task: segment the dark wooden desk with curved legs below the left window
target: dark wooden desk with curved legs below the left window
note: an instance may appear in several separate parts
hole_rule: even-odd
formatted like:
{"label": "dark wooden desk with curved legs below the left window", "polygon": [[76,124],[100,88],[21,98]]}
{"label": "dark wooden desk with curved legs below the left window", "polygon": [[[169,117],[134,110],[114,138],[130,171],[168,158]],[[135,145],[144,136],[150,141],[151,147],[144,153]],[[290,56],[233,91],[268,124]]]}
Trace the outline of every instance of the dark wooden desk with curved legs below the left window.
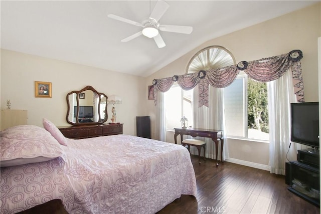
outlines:
{"label": "dark wooden desk with curved legs below the left window", "polygon": [[[221,162],[222,162],[222,154],[223,154],[223,131],[222,130],[215,130],[215,129],[201,129],[201,128],[174,128],[174,140],[177,144],[177,135],[181,135],[181,143],[183,141],[183,135],[190,135],[192,137],[208,137],[211,138],[215,142],[215,157],[216,157],[216,166],[219,165],[218,163],[218,149],[219,149],[219,142],[218,139],[221,141]],[[219,137],[218,137],[218,133]]]}

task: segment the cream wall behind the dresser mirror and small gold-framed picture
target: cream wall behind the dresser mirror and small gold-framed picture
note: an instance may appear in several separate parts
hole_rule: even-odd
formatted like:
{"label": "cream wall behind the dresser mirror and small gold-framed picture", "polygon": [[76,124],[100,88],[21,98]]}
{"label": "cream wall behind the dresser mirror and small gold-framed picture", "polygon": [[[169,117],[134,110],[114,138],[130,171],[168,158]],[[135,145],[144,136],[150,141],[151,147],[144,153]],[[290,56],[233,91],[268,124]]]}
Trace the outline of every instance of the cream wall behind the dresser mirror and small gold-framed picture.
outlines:
{"label": "cream wall behind the dresser mirror and small gold-framed picture", "polygon": [[[51,82],[52,98],[36,98],[34,81]],[[32,125],[42,126],[43,117],[56,126],[69,125],[67,93],[90,85],[107,96],[116,94],[122,98],[122,104],[115,105],[117,122],[124,123],[124,134],[135,135],[136,116],[146,112],[141,105],[147,99],[141,96],[144,83],[142,77],[1,50],[1,109],[6,109],[6,101],[11,100],[12,109],[28,110],[28,124]]]}

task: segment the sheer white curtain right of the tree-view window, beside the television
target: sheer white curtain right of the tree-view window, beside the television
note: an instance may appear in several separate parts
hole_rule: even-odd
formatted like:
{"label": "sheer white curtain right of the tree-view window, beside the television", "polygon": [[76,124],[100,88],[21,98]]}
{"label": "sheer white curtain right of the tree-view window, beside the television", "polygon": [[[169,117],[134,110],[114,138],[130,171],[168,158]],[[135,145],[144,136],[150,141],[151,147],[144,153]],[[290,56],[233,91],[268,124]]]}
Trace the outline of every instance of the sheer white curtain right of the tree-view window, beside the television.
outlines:
{"label": "sheer white curtain right of the tree-view window, beside the television", "polygon": [[[270,172],[285,175],[285,162],[296,160],[300,144],[291,143],[290,103],[296,102],[289,69],[282,77],[268,82],[270,128]],[[289,145],[291,143],[291,147]],[[287,153],[288,152],[288,153]]]}

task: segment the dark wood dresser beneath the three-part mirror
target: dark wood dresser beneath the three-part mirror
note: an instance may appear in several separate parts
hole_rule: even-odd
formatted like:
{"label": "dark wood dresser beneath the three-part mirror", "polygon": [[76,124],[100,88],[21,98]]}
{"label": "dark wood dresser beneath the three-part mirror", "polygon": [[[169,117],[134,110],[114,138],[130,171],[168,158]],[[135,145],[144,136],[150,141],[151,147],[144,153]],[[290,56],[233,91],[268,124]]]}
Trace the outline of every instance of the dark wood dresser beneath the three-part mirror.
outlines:
{"label": "dark wood dresser beneath the three-part mirror", "polygon": [[99,124],[99,125],[76,125],[61,126],[58,129],[68,138],[83,139],[89,137],[99,137],[114,134],[122,134],[122,123],[119,124]]}

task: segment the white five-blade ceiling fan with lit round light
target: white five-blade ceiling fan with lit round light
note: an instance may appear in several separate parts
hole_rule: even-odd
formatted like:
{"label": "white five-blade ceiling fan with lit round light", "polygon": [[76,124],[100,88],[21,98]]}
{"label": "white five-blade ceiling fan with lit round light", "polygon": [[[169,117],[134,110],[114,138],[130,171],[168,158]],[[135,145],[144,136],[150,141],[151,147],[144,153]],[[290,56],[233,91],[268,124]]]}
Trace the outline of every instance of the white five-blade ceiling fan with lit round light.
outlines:
{"label": "white five-blade ceiling fan with lit round light", "polygon": [[174,33],[180,33],[180,34],[191,34],[193,31],[193,27],[190,27],[190,26],[161,25],[158,21],[159,19],[162,18],[162,16],[165,14],[165,12],[169,7],[170,6],[166,2],[161,0],[157,1],[149,18],[147,20],[144,20],[141,23],[128,20],[126,18],[119,17],[113,14],[109,14],[108,17],[114,20],[118,20],[121,22],[125,22],[128,24],[143,28],[142,31],[121,40],[121,42],[128,42],[136,37],[139,37],[140,35],[144,35],[145,37],[153,38],[158,48],[163,48],[166,46],[166,44],[161,34],[159,34],[159,31],[174,32]]}

